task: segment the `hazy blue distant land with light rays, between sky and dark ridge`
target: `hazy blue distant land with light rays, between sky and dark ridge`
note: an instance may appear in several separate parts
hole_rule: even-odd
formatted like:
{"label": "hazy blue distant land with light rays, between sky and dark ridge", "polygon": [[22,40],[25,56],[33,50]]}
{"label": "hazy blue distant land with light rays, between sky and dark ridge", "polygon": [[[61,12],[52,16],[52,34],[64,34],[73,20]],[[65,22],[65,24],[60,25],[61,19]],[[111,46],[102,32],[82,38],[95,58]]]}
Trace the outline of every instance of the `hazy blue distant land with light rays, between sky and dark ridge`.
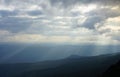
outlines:
{"label": "hazy blue distant land with light rays, between sky and dark ridge", "polygon": [[[59,60],[70,55],[94,56],[117,53],[120,45],[1,44],[0,63],[33,63]],[[75,57],[77,56],[75,55]]]}

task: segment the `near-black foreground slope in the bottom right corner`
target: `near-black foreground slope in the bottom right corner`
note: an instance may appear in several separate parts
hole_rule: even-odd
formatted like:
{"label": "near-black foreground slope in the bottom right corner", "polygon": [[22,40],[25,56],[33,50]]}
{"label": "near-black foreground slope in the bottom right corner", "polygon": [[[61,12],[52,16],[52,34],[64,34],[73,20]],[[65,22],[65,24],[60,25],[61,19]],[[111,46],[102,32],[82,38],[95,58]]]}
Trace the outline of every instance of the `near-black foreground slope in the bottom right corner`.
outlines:
{"label": "near-black foreground slope in the bottom right corner", "polygon": [[120,77],[120,61],[105,71],[102,77]]}

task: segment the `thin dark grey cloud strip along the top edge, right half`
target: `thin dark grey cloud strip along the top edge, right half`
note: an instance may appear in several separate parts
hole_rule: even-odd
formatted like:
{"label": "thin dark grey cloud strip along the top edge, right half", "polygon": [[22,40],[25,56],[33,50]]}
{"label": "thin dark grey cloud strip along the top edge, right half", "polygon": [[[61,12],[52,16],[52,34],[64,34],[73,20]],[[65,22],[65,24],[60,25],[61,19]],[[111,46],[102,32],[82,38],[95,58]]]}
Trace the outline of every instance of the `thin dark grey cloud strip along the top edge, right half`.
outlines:
{"label": "thin dark grey cloud strip along the top edge, right half", "polygon": [[58,3],[62,3],[62,6],[68,7],[73,6],[75,4],[99,4],[99,5],[119,5],[120,0],[50,0],[52,5],[57,5]]}

